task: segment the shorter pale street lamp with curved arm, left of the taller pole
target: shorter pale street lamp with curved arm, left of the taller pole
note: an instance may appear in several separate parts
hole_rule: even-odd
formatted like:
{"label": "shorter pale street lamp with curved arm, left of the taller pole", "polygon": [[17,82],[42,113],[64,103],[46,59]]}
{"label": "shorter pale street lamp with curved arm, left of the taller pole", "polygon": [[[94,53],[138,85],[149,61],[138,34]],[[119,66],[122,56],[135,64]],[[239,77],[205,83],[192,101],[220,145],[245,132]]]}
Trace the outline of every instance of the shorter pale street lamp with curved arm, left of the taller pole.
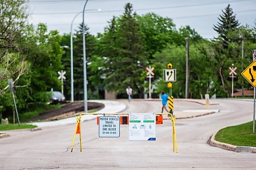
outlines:
{"label": "shorter pale street lamp with curved arm, left of the taller pole", "polygon": [[[100,11],[100,9],[93,9],[93,10],[86,10],[86,11]],[[84,11],[82,12],[79,12],[75,15],[75,17],[73,18],[72,22],[71,22],[71,30],[70,30],[70,65],[71,65],[71,102],[74,102],[74,76],[73,76],[73,22],[75,20],[75,18],[83,13]]]}

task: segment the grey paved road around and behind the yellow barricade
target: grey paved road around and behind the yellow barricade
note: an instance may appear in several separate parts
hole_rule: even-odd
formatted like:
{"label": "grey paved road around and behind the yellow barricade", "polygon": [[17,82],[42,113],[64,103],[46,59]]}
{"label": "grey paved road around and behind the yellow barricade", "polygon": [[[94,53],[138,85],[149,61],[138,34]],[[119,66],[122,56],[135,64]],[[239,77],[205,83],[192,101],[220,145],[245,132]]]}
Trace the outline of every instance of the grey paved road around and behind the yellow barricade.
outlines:
{"label": "grey paved road around and behind the yellow barricade", "polygon": [[[124,112],[159,112],[161,102],[121,101]],[[209,137],[226,126],[249,122],[253,103],[216,100],[219,113],[177,119],[178,153],[173,153],[172,124],[156,126],[156,141],[128,141],[127,125],[120,138],[99,138],[95,120],[81,124],[82,152],[77,135],[70,152],[75,125],[44,128],[41,131],[12,131],[0,139],[0,169],[256,169],[256,154],[236,153],[211,147]],[[197,103],[175,102],[177,110],[205,109]]]}

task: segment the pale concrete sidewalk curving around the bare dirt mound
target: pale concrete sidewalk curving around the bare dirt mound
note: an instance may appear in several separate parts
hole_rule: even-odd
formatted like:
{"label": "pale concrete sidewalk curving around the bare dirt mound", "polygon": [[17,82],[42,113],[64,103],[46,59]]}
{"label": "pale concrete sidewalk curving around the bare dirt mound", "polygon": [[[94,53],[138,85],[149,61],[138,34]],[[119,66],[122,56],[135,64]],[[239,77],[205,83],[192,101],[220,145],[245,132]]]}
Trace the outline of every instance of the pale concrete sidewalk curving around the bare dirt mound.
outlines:
{"label": "pale concrete sidewalk curving around the bare dirt mound", "polygon": [[[90,100],[89,102],[97,102],[105,105],[105,107],[101,110],[98,110],[97,113],[118,113],[118,112],[122,112],[126,108],[126,105],[117,101]],[[51,122],[35,122],[35,123],[32,123],[32,125],[36,125],[37,127],[51,127],[51,126],[75,124],[76,117],[69,117],[69,118],[51,121]],[[96,117],[97,115],[92,115],[92,114],[82,115],[81,122],[92,120],[92,119],[95,119]]]}

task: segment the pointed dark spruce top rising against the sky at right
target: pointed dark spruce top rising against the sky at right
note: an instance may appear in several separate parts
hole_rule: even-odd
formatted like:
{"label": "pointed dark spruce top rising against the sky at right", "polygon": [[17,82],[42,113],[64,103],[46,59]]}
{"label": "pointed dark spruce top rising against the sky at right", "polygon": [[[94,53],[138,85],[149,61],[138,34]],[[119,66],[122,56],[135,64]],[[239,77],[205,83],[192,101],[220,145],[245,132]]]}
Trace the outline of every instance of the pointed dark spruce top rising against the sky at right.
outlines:
{"label": "pointed dark spruce top rising against the sky at right", "polygon": [[232,8],[230,5],[225,8],[223,14],[218,18],[219,21],[217,25],[214,25],[214,30],[221,36],[223,41],[223,47],[226,49],[228,44],[228,32],[238,29],[239,22],[236,20],[236,15],[233,14]]}

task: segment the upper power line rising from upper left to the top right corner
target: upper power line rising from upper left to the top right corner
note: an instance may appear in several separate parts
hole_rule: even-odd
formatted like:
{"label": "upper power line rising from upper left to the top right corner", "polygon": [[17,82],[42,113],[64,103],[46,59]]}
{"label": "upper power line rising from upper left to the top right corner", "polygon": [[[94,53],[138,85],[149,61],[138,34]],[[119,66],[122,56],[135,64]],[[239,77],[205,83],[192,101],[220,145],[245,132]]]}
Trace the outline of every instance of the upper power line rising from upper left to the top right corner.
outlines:
{"label": "upper power line rising from upper left to the top right corner", "polygon": [[[97,1],[97,0],[95,0]],[[183,6],[171,6],[171,7],[159,7],[159,8],[141,8],[134,9],[134,11],[144,11],[144,10],[159,10],[159,9],[171,9],[171,8],[186,8],[186,7],[197,7],[206,5],[216,5],[216,4],[226,4],[226,3],[237,3],[253,0],[236,0],[236,1],[226,1],[220,3],[205,3],[205,4],[195,4],[195,5],[183,5]],[[110,11],[99,11],[99,12],[87,12],[87,13],[109,13],[109,12],[123,12],[123,10],[110,10]],[[53,13],[32,13],[32,15],[57,15],[57,14],[77,14],[78,12],[53,12]]]}

